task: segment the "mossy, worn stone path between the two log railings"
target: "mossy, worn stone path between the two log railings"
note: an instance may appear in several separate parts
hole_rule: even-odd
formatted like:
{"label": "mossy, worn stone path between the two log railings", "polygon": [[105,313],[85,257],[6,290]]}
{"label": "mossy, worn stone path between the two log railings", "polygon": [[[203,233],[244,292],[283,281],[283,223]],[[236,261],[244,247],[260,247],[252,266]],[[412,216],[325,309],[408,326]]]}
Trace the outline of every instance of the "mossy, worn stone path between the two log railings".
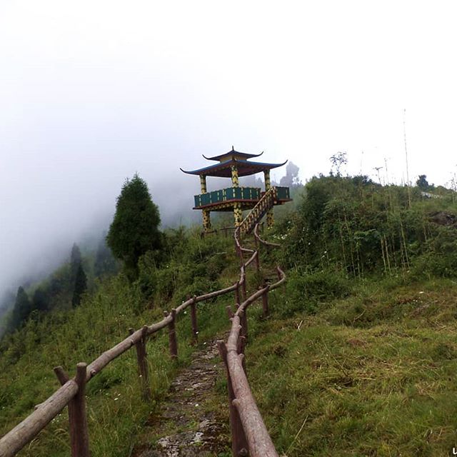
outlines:
{"label": "mossy, worn stone path between the two log railings", "polygon": [[[171,384],[158,415],[147,423],[144,444],[134,457],[228,456],[229,407],[216,393],[219,373],[225,370],[216,339],[194,353],[191,365]],[[224,374],[225,376],[225,374]]]}

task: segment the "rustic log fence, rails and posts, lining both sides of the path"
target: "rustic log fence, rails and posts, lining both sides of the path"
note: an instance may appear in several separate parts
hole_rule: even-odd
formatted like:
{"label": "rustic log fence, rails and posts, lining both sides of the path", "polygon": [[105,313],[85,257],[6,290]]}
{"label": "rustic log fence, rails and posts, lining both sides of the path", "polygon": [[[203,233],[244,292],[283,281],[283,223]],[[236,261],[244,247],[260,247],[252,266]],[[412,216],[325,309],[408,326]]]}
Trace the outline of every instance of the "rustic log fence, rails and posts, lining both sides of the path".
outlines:
{"label": "rustic log fence, rails and posts, lining both sides of the path", "polygon": [[[146,363],[146,342],[153,333],[168,327],[169,351],[172,358],[178,356],[178,345],[176,342],[176,316],[189,306],[191,307],[191,326],[193,339],[196,341],[198,335],[197,307],[196,304],[226,293],[234,292],[236,311],[231,306],[227,307],[231,319],[231,331],[226,342],[218,341],[219,353],[224,360],[229,387],[230,425],[232,437],[233,456],[251,457],[278,457],[273,442],[263,423],[261,413],[258,411],[256,401],[253,398],[246,378],[244,347],[247,338],[248,306],[254,301],[262,298],[263,316],[268,316],[268,292],[281,286],[286,281],[286,275],[281,268],[277,268],[278,281],[273,284],[264,284],[258,291],[247,297],[246,293],[246,268],[256,261],[257,271],[260,269],[258,249],[243,248],[239,241],[239,228],[234,232],[236,253],[240,259],[240,279],[233,286],[219,291],[206,293],[201,296],[194,296],[182,303],[165,317],[150,326],[143,326],[134,331],[129,330],[130,335],[116,346],[105,351],[93,362],[78,363],[76,376],[69,378],[61,366],[54,368],[61,387],[55,391],[43,403],[35,407],[35,411],[27,416],[11,431],[0,439],[0,457],[16,455],[21,448],[24,448],[53,418],[68,406],[69,411],[69,433],[71,442],[72,457],[89,457],[89,433],[86,418],[86,383],[94,378],[100,371],[116,357],[119,357],[135,346],[138,361],[139,379],[141,391],[147,400],[150,397],[148,366]],[[274,246],[267,243],[258,236],[258,224],[254,231],[256,246]],[[244,253],[251,253],[250,258],[244,261]]]}

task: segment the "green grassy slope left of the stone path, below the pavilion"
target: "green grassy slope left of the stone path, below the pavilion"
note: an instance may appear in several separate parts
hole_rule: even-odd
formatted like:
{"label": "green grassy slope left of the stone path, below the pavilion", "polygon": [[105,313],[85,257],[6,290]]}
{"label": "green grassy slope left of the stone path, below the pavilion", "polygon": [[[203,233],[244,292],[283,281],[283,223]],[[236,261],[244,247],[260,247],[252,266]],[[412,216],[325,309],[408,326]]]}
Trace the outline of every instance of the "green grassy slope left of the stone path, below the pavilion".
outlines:
{"label": "green grassy slope left of the stone path, below the pavilion", "polygon": [[[154,259],[141,262],[140,277],[129,283],[119,275],[101,281],[81,306],[44,313],[29,319],[24,328],[2,341],[0,355],[0,434],[19,423],[44,401],[59,383],[52,368],[64,366],[73,376],[76,363],[94,360],[124,339],[131,327],[154,323],[163,311],[178,306],[188,293],[199,294],[233,283],[233,241],[201,240],[198,233],[169,233],[166,262],[156,268]],[[234,265],[234,266],[233,266]],[[221,297],[199,305],[200,338],[228,328],[225,306],[233,298]],[[144,403],[139,392],[136,354],[119,357],[88,384],[89,435],[93,456],[126,456],[136,434],[156,401],[166,392],[174,373],[194,351],[189,316],[177,323],[179,361],[168,356],[168,336],[160,333],[148,344],[153,401]],[[68,420],[63,411],[21,455],[67,456]]]}

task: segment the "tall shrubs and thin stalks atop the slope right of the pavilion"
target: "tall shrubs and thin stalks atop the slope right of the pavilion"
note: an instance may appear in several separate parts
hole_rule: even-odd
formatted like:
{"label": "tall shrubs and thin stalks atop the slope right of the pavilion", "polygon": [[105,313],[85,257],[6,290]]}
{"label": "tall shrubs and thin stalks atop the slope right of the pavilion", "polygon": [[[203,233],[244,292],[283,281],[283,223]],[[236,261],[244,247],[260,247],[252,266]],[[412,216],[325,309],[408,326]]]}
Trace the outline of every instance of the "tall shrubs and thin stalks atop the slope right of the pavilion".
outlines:
{"label": "tall shrubs and thin stalks atop the slope right of the pavilion", "polygon": [[408,280],[433,275],[436,268],[451,276],[457,266],[454,229],[430,219],[433,211],[457,212],[450,192],[426,201],[411,189],[410,206],[402,186],[380,186],[365,176],[314,178],[296,213],[276,229],[284,245],[279,261],[301,272],[340,271],[358,279],[376,274]]}

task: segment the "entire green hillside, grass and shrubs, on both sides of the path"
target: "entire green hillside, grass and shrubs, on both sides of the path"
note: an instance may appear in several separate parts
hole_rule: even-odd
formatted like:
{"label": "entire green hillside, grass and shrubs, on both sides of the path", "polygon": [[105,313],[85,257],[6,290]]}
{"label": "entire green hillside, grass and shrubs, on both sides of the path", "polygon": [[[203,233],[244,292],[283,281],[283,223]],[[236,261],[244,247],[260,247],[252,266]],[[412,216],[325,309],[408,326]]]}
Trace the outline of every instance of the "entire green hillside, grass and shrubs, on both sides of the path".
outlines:
{"label": "entire green hillside, grass and shrubs, on both sides of the path", "polygon": [[[278,452],[285,456],[442,456],[457,446],[457,206],[439,189],[379,186],[363,176],[321,176],[296,194],[266,236],[282,248],[261,263],[286,267],[272,315],[249,311],[248,378]],[[57,388],[51,368],[74,373],[159,320],[188,294],[235,281],[233,240],[171,231],[139,278],[94,284],[78,308],[54,310],[3,343],[0,433]],[[159,266],[160,265],[160,266]],[[248,280],[255,283],[253,273]],[[222,297],[199,308],[201,341],[228,327]],[[179,361],[166,333],[148,346],[153,401],[139,394],[134,351],[90,383],[94,456],[126,456],[176,371],[189,362],[190,323],[178,323]],[[226,401],[226,380],[214,408]],[[22,455],[68,454],[66,413]]]}

